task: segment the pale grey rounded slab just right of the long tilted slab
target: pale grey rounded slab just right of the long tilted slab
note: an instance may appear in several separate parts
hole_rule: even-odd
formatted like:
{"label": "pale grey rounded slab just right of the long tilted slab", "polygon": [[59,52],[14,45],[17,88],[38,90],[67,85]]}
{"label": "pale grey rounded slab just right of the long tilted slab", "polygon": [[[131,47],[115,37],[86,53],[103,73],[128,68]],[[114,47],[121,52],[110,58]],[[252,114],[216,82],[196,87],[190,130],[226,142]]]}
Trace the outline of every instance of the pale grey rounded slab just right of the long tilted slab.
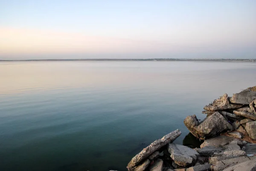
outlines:
{"label": "pale grey rounded slab just right of the long tilted slab", "polygon": [[192,162],[195,162],[197,156],[199,155],[198,152],[192,148],[178,144],[169,144],[168,151],[175,163],[184,167],[191,165]]}

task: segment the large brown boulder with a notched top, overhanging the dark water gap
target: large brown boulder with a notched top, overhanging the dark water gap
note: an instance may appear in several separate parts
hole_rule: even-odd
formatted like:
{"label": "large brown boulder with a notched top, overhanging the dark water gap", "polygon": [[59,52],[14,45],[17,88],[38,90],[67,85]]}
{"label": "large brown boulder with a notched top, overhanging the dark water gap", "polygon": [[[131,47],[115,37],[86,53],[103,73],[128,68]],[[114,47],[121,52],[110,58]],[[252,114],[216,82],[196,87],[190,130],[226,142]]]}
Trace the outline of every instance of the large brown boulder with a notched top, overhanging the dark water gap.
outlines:
{"label": "large brown boulder with a notched top, overhanging the dark water gap", "polygon": [[201,124],[195,115],[187,116],[184,124],[195,137],[200,139],[215,136],[224,130],[233,130],[232,125],[218,112],[207,117]]}

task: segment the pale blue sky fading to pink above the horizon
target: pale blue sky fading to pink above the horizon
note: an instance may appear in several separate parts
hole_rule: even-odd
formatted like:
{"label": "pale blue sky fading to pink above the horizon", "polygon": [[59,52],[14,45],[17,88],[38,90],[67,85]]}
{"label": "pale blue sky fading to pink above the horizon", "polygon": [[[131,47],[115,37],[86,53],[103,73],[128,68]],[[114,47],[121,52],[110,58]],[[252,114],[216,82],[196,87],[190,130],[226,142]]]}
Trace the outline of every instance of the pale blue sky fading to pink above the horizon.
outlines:
{"label": "pale blue sky fading to pink above the horizon", "polygon": [[0,0],[0,59],[256,58],[256,0]]}

